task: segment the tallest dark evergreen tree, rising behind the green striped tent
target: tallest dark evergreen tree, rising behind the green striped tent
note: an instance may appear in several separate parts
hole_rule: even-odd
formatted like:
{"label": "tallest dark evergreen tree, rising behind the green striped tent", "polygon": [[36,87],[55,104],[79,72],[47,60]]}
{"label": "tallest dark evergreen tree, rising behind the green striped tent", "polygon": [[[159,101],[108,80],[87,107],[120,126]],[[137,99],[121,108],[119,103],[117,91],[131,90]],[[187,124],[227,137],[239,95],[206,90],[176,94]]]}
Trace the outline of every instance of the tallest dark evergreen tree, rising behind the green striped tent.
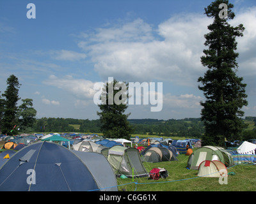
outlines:
{"label": "tallest dark evergreen tree, rising behind the green striped tent", "polygon": [[[222,3],[227,5],[225,18],[221,13]],[[236,58],[239,54],[235,52],[236,37],[243,36],[244,27],[242,24],[236,27],[228,24],[227,20],[235,17],[231,10],[233,7],[228,0],[216,0],[205,8],[205,15],[213,18],[213,23],[208,26],[211,32],[205,34],[204,45],[209,48],[204,50],[205,55],[201,57],[203,66],[208,69],[204,77],[198,78],[202,84],[198,88],[204,91],[206,98],[205,102],[201,101],[201,119],[205,124],[203,145],[224,146],[225,138],[236,139],[245,126],[241,119],[244,115],[241,108],[248,104],[246,84],[242,83],[242,77],[236,75]]]}

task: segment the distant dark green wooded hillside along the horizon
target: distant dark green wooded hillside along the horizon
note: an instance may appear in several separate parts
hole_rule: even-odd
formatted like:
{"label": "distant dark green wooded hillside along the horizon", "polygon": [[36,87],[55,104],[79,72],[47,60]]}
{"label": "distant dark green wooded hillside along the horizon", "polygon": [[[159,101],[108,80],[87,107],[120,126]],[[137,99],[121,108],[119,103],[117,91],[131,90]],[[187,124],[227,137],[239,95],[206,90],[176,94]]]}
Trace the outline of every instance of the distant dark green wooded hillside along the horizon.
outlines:
{"label": "distant dark green wooded hillside along the horizon", "polygon": [[[128,119],[133,133],[138,135],[158,136],[185,136],[186,138],[200,138],[204,134],[204,122],[200,118],[186,119]],[[256,117],[245,117],[248,124],[246,131],[255,129]],[[100,133],[100,120],[89,119],[63,119],[42,118],[36,119],[33,126],[34,132],[80,132]]]}

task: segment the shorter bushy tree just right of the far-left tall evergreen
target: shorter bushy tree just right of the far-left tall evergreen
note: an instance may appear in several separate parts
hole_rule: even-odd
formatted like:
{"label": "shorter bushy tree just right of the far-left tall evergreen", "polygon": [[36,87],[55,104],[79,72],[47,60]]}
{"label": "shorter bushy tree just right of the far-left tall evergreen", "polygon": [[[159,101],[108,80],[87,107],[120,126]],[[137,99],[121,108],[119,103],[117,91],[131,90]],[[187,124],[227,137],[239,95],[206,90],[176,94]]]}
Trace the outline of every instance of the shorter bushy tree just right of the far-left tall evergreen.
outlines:
{"label": "shorter bushy tree just right of the far-left tall evergreen", "polygon": [[22,99],[22,105],[19,106],[18,116],[20,117],[20,128],[26,131],[26,128],[31,128],[36,121],[36,110],[33,108],[33,99]]}

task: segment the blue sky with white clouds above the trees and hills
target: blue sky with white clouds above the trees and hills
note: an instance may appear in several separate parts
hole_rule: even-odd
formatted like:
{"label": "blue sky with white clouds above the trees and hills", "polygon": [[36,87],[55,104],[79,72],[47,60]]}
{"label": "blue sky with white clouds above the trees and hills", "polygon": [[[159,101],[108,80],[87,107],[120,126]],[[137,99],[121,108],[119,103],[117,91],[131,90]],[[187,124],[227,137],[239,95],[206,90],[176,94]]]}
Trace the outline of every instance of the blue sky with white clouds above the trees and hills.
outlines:
{"label": "blue sky with white clouds above the trees and hills", "polygon": [[[157,103],[161,110],[152,112],[156,103],[141,100],[128,106],[129,119],[198,118],[205,98],[197,79],[207,70],[200,57],[212,23],[204,8],[211,2],[1,0],[0,91],[15,75],[21,84],[19,97],[33,99],[36,118],[92,120],[99,119],[100,111],[93,101],[95,84],[109,77],[151,82],[155,89],[149,93],[163,97]],[[236,39],[237,75],[247,84],[244,116],[256,116],[256,1],[229,2],[236,17],[228,22],[245,27],[244,36]],[[29,3],[35,12],[27,8]],[[143,96],[147,92],[141,91]]]}

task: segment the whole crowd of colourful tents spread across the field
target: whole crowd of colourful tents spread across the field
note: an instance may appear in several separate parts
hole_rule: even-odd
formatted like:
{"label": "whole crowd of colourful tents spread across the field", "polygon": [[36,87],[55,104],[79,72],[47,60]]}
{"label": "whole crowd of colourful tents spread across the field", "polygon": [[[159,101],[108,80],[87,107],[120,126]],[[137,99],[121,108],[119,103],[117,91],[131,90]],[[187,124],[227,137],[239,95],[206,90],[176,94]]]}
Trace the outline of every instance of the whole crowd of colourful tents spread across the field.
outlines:
{"label": "whole crowd of colourful tents spread across the field", "polygon": [[[0,151],[0,191],[117,191],[116,177],[148,177],[145,163],[178,161],[179,154],[188,153],[197,142],[100,136],[70,140],[58,134],[40,140],[6,138]],[[220,177],[227,175],[227,167],[256,161],[255,150],[250,142],[236,152],[199,147],[189,153],[187,167],[198,170],[200,177]]]}

